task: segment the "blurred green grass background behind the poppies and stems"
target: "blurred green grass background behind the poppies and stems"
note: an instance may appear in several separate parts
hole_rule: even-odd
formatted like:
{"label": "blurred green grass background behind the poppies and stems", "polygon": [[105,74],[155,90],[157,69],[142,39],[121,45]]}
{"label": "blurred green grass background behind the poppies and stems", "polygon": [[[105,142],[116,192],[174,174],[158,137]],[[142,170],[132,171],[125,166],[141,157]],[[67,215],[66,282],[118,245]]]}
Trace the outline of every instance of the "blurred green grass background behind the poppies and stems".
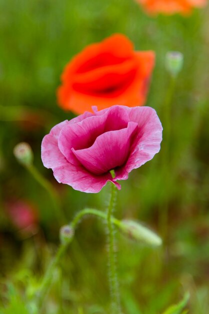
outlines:
{"label": "blurred green grass background behind the poppies and stems", "polygon": [[[158,212],[168,201],[168,235],[161,250],[140,247],[118,235],[118,269],[122,304],[127,314],[157,314],[191,294],[189,313],[207,314],[209,267],[208,217],[208,9],[180,16],[148,17],[131,0],[0,0],[0,275],[1,303],[6,303],[4,282],[13,282],[19,295],[47,267],[58,242],[51,203],[30,175],[16,163],[12,150],[19,141],[32,146],[34,163],[59,191],[67,218],[85,206],[104,210],[108,187],[97,195],[73,191],[55,182],[40,160],[40,143],[51,126],[70,119],[58,108],[55,90],[69,59],[87,44],[112,33],[123,33],[136,50],[154,50],[156,66],[147,105],[156,109],[163,124],[163,104],[169,87],[164,68],[167,51],[184,55],[172,100],[170,184],[162,175],[161,151],[153,161],[121,182],[118,218],[144,221],[160,232]],[[16,110],[13,109],[15,106]],[[32,114],[21,122],[18,106]],[[3,108],[2,108],[3,107]],[[9,110],[11,113],[8,114]],[[24,111],[24,110],[23,110]],[[5,113],[7,112],[7,113]],[[167,187],[169,186],[169,190]],[[39,209],[40,235],[21,239],[5,215],[8,200],[26,198]],[[105,226],[95,219],[81,223],[57,270],[47,314],[105,313],[108,287],[105,275]],[[78,247],[80,249],[78,249]],[[22,270],[23,269],[23,270]],[[18,277],[19,276],[19,277]],[[61,309],[60,289],[64,301]],[[25,296],[23,296],[25,297]]]}

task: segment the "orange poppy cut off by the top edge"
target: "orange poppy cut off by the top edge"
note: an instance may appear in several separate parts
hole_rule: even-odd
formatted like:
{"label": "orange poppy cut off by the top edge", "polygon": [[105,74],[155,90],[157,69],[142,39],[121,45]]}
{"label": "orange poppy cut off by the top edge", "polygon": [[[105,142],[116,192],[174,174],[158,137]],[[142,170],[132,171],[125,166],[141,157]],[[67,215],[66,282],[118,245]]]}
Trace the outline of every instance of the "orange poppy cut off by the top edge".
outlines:
{"label": "orange poppy cut off by the top edge", "polygon": [[150,14],[188,14],[194,7],[203,7],[206,0],[136,0]]}

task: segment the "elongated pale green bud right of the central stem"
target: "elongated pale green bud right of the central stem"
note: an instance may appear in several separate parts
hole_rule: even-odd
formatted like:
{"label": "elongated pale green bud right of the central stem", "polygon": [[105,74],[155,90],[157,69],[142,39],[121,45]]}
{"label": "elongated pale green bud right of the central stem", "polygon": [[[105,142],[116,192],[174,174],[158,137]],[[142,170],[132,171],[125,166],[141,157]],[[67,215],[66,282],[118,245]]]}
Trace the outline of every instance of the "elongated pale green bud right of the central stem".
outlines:
{"label": "elongated pale green bud right of the central stem", "polygon": [[133,240],[141,244],[160,246],[161,238],[150,229],[132,220],[121,220],[118,225],[120,230]]}

